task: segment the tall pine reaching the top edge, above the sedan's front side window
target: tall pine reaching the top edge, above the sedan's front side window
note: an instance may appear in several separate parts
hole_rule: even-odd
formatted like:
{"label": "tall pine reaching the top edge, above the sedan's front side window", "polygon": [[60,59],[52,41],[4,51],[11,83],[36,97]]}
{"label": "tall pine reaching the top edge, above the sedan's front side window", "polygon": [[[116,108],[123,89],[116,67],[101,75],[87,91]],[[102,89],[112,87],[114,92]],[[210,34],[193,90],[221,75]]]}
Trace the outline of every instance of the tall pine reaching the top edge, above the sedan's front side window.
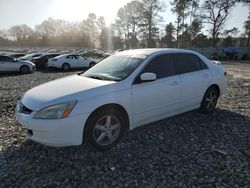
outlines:
{"label": "tall pine reaching the top edge, above the sedan's front side window", "polygon": [[162,20],[159,12],[163,10],[165,4],[160,0],[143,0],[144,11],[142,17],[141,31],[146,42],[146,47],[155,47],[155,40],[158,37],[157,25]]}

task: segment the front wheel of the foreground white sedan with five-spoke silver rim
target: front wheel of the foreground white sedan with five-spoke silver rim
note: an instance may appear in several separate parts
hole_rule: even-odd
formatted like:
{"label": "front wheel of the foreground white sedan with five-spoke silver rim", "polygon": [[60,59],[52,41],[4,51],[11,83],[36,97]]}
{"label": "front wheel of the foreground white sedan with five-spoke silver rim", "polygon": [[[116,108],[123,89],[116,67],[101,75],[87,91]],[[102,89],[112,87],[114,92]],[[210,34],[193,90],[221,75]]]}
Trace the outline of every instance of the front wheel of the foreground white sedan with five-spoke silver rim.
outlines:
{"label": "front wheel of the foreground white sedan with five-spoke silver rim", "polygon": [[84,141],[103,152],[114,147],[125,133],[126,119],[114,108],[102,109],[91,115],[84,130]]}

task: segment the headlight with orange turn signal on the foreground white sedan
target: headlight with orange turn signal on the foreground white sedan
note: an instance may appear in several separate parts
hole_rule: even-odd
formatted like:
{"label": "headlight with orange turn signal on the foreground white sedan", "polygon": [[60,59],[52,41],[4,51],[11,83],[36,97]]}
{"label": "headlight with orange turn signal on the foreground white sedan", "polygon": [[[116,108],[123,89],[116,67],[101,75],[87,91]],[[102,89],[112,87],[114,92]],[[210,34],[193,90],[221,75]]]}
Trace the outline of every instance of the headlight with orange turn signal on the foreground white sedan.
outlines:
{"label": "headlight with orange turn signal on the foreground white sedan", "polygon": [[61,119],[66,118],[75,107],[77,101],[69,101],[60,104],[48,106],[39,110],[34,119]]}

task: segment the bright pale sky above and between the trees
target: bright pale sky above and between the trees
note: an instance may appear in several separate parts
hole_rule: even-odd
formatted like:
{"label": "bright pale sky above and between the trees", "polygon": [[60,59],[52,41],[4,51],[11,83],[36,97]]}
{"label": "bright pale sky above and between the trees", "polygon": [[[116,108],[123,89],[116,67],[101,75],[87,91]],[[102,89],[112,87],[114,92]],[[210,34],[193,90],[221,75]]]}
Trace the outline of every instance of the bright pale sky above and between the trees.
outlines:
{"label": "bright pale sky above and between the trees", "polygon": [[[110,24],[116,17],[118,9],[131,0],[0,0],[0,29],[8,29],[13,25],[27,24],[34,28],[48,17],[68,21],[82,21],[94,12],[104,16]],[[172,1],[172,0],[171,0]],[[162,13],[164,25],[175,21],[170,11],[170,1],[164,0],[167,8]],[[247,19],[249,9],[237,5],[231,11],[226,23],[227,29],[237,27],[243,31],[243,23]]]}

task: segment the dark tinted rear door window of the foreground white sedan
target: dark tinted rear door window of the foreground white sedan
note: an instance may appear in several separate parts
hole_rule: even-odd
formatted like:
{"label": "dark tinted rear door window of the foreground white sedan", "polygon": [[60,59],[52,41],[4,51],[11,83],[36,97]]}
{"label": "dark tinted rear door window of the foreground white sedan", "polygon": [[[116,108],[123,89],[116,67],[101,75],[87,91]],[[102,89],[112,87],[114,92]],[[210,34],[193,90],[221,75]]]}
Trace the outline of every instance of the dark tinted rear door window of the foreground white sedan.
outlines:
{"label": "dark tinted rear door window of the foreground white sedan", "polygon": [[200,59],[192,54],[175,54],[174,61],[177,74],[183,74],[202,69]]}

